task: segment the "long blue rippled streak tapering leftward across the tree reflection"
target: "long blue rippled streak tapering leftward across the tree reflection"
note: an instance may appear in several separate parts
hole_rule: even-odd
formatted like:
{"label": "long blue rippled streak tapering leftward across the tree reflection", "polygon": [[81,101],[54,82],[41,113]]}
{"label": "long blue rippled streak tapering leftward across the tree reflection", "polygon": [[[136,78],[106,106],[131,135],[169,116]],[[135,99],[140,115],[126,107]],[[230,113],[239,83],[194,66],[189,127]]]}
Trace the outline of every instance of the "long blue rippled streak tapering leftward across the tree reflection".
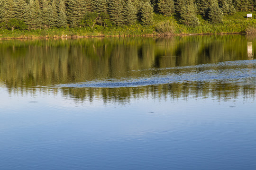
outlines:
{"label": "long blue rippled streak tapering leftward across the tree reflection", "polygon": [[256,78],[256,60],[227,61],[197,66],[174,68],[149,68],[136,70],[138,72],[157,71],[158,73],[143,77],[123,77],[121,79],[94,80],[81,83],[62,84],[58,87],[92,87],[117,88],[137,87],[146,85],[161,85],[183,82],[211,82],[211,81],[242,81]]}

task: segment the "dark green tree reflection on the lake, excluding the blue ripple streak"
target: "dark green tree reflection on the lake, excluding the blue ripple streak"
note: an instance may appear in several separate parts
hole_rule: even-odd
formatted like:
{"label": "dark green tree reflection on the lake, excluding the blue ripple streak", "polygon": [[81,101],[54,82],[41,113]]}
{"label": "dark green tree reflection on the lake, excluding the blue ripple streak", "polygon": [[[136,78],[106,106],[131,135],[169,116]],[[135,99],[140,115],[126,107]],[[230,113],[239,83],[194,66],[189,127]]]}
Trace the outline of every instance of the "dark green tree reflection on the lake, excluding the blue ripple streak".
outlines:
{"label": "dark green tree reflection on the lake, excluding the blue ripple streak", "polygon": [[81,101],[101,98],[104,102],[129,102],[131,98],[145,96],[175,99],[188,95],[215,99],[236,99],[238,95],[255,98],[255,84],[222,81],[122,88],[52,88],[93,80],[152,76],[161,70],[150,68],[255,59],[255,49],[255,35],[1,41],[0,84],[10,92],[50,89]]}

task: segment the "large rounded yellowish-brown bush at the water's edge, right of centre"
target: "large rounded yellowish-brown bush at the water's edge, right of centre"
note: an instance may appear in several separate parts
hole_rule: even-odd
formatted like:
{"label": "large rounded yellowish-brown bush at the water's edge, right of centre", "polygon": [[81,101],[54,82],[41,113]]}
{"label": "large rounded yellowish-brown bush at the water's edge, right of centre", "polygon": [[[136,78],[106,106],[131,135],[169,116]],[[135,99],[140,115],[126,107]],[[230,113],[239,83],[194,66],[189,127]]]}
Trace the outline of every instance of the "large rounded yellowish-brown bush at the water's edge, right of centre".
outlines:
{"label": "large rounded yellowish-brown bush at the water's edge, right of centre", "polygon": [[159,35],[163,35],[163,36],[174,35],[176,28],[170,21],[167,21],[167,22],[161,22],[157,26],[155,26],[155,31]]}

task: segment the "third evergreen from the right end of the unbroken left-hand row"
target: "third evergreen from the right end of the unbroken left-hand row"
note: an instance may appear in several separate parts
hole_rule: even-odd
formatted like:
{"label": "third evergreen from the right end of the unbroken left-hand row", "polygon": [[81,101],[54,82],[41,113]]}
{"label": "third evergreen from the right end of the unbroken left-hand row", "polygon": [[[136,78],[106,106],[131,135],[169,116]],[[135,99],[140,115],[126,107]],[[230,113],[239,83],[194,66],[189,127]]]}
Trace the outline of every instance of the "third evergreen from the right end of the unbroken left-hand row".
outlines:
{"label": "third evergreen from the right end of the unbroken left-hand row", "polygon": [[124,23],[122,0],[109,0],[108,13],[114,25],[121,26]]}

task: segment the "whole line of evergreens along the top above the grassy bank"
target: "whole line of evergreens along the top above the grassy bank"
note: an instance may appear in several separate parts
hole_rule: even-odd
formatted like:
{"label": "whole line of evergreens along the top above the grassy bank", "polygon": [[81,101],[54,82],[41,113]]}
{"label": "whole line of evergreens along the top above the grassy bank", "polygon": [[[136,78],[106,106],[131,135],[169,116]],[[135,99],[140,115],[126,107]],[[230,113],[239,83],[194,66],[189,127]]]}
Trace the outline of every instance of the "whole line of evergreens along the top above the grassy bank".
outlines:
{"label": "whole line of evergreens along the top above the grassy bank", "polygon": [[180,23],[199,25],[197,15],[212,23],[223,15],[253,10],[256,0],[0,0],[0,27],[48,29],[95,25],[153,24],[153,12],[176,15]]}

